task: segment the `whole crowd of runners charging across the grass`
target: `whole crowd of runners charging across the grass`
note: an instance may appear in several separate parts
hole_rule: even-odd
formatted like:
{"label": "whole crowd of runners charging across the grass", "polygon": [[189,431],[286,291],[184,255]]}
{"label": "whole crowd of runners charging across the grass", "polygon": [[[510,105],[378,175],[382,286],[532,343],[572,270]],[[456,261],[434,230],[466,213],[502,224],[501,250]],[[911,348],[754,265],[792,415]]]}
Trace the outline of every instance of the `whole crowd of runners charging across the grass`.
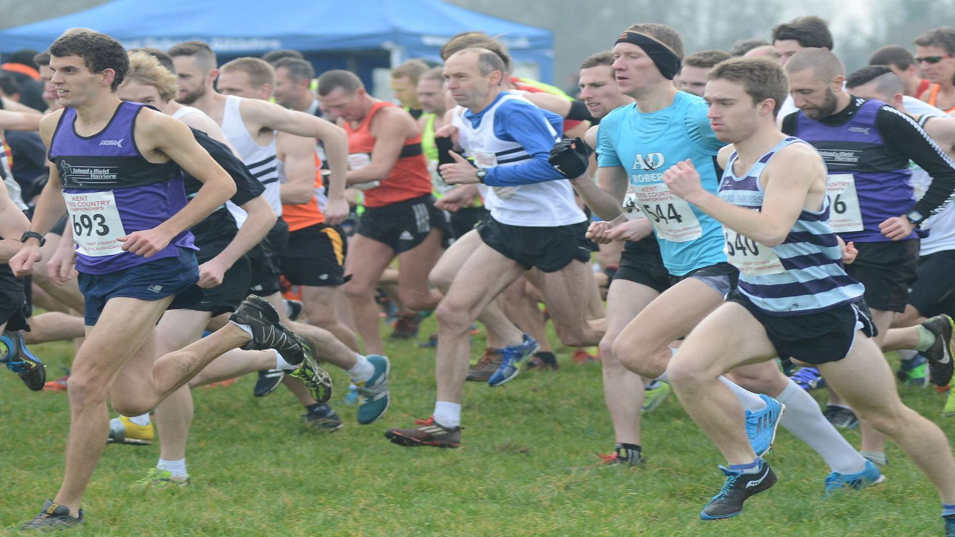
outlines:
{"label": "whole crowd of runners charging across the grass", "polygon": [[[557,369],[549,320],[602,363],[601,463],[643,461],[641,414],[670,392],[723,454],[700,518],[773,486],[781,425],[828,465],[826,495],[883,482],[894,440],[955,536],[950,446],[897,390],[944,393],[953,372],[955,29],[853,73],[818,17],[765,37],[688,55],[677,30],[635,24],[570,97],[465,32],[441,63],[392,70],[397,104],[296,51],[220,64],[200,41],[125,50],[72,29],[11,54],[0,363],[71,409],[62,485],[23,528],[82,524],[108,442],[158,437],[141,483],[187,485],[198,386],[256,374],[255,397],[284,385],[318,430],[343,427],[332,403],[377,421],[382,317],[409,339],[433,313],[436,394],[412,404],[434,411],[393,444],[458,447],[466,381]],[[28,346],[57,340],[75,356],[48,379]]]}

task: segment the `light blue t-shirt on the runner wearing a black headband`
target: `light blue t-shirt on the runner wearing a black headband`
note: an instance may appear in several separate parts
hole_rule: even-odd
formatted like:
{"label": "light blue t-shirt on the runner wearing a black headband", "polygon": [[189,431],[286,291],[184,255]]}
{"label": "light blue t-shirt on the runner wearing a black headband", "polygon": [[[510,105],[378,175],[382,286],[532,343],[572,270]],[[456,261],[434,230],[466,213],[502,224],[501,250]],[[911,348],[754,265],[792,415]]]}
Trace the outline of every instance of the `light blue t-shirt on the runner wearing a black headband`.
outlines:
{"label": "light blue t-shirt on the runner wearing a black headband", "polygon": [[601,119],[598,164],[626,170],[636,203],[653,224],[664,266],[674,276],[725,263],[725,241],[722,226],[669,192],[663,174],[690,159],[703,187],[715,195],[716,153],[724,145],[710,128],[706,101],[685,92],[677,92],[673,103],[658,112],[643,114],[629,104]]}

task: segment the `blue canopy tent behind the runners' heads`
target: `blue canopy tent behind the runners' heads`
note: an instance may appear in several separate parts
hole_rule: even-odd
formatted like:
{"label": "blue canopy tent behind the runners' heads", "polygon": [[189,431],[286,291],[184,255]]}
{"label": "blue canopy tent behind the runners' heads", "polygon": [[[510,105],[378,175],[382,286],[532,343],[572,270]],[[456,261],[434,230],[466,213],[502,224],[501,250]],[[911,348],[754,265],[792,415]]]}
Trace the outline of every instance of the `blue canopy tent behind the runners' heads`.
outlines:
{"label": "blue canopy tent behind the runners' heads", "polygon": [[[170,46],[191,39],[209,43],[222,59],[276,49],[302,52],[321,73],[349,69],[371,83],[371,70],[407,58],[439,61],[438,51],[457,32],[498,36],[515,62],[553,75],[550,31],[465,10],[440,0],[112,0],[96,8],[0,31],[0,53],[44,50],[64,30],[87,27],[128,48]],[[370,84],[371,85],[371,84]]]}

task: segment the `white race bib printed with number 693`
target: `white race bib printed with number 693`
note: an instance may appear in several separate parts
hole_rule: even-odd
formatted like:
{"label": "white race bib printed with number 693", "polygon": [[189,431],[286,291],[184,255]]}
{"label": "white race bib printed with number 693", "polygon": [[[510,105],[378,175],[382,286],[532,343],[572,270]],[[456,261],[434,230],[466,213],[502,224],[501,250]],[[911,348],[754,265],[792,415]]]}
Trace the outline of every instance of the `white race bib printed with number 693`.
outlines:
{"label": "white race bib printed with number 693", "polygon": [[119,219],[117,200],[112,191],[63,193],[70,212],[76,251],[91,257],[122,253],[117,239],[126,234]]}

